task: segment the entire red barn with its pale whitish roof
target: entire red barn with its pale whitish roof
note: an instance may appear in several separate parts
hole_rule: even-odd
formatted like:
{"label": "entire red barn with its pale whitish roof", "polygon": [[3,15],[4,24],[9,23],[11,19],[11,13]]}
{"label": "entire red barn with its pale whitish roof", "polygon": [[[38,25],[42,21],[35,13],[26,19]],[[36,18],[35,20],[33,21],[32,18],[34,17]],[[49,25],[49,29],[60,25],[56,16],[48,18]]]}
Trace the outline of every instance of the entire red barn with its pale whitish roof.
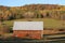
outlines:
{"label": "entire red barn with its pale whitish roof", "polygon": [[14,22],[13,35],[26,39],[42,39],[43,22]]}

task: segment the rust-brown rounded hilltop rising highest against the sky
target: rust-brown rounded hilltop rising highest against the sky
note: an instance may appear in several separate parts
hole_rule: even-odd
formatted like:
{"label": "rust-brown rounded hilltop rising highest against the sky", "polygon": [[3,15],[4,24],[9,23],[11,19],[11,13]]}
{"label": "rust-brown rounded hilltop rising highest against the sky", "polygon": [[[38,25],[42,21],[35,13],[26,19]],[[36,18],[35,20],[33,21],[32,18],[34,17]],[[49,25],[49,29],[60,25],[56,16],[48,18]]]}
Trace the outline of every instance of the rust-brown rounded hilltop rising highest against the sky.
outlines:
{"label": "rust-brown rounded hilltop rising highest against the sky", "polygon": [[24,5],[22,6],[24,9],[29,10],[60,10],[63,8],[63,5],[56,5],[56,4],[30,4],[30,5]]}

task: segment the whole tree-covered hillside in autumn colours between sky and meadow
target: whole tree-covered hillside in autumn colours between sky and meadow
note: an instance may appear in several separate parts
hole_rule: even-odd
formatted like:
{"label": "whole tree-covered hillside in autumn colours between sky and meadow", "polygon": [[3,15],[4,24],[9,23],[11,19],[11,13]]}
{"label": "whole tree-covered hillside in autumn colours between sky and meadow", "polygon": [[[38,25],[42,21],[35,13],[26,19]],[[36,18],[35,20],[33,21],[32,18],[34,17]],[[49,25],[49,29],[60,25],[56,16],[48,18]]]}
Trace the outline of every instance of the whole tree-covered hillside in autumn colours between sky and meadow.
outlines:
{"label": "whole tree-covered hillside in autumn colours between sky and meadow", "polygon": [[0,20],[11,20],[17,18],[43,18],[43,17],[53,17],[61,19],[62,14],[64,18],[65,5],[57,4],[27,4],[23,6],[0,5]]}

